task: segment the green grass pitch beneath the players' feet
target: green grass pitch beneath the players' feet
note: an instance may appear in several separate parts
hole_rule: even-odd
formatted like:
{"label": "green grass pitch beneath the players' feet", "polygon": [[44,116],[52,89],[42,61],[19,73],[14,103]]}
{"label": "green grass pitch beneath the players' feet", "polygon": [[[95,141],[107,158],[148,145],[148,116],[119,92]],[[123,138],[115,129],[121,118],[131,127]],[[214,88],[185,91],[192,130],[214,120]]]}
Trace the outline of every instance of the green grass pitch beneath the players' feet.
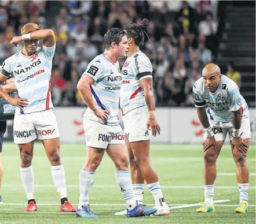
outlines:
{"label": "green grass pitch beneath the players' feet", "polygon": [[[217,162],[219,175],[215,181],[214,200],[230,200],[215,206],[213,214],[197,214],[195,207],[173,208],[169,217],[126,218],[114,216],[125,208],[120,189],[115,182],[115,167],[107,155],[96,171],[90,192],[92,211],[99,219],[79,219],[74,213],[60,212],[60,201],[50,174],[50,163],[41,143],[35,144],[34,175],[37,212],[23,212],[27,199],[20,180],[19,150],[13,143],[3,148],[5,176],[0,206],[0,223],[255,223],[255,146],[248,153],[250,191],[247,214],[235,214],[239,202],[235,163],[229,145],[222,148]],[[68,199],[76,206],[79,198],[79,171],[85,161],[84,144],[61,144],[61,158],[65,166]],[[164,197],[170,207],[203,201],[203,152],[200,145],[151,145],[151,160],[163,186]],[[153,206],[151,193],[145,189],[144,203]]]}

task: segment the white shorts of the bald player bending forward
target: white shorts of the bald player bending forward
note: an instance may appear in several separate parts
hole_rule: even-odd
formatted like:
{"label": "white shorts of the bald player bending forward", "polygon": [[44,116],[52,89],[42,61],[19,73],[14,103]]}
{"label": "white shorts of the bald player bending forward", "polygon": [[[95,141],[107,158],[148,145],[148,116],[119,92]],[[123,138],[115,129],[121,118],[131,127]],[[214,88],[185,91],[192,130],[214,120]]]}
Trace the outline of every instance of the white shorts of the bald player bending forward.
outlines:
{"label": "white shorts of the bald player bending forward", "polygon": [[[218,122],[209,120],[211,128],[213,129],[214,137],[216,141],[224,141],[226,139],[226,134],[229,135],[229,140],[233,140],[233,124],[232,122]],[[241,122],[240,133],[242,133],[242,139],[251,138],[251,125],[250,118],[246,118]],[[204,133],[204,140],[206,139],[206,134]]]}

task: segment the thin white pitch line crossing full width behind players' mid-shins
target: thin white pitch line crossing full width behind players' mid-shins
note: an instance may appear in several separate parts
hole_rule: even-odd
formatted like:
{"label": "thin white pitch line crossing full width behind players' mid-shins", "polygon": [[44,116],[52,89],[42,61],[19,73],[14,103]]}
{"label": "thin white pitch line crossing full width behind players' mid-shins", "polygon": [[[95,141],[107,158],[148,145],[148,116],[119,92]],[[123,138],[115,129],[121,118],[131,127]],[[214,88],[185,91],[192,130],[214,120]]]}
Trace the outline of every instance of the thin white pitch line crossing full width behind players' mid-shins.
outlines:
{"label": "thin white pitch line crossing full width behind players' mid-shins", "polygon": [[[8,186],[17,188],[17,186],[23,187],[22,184],[3,184],[2,186]],[[54,184],[35,184],[36,188],[55,188]],[[67,188],[79,188],[79,185],[67,185]],[[117,185],[93,185],[93,188],[119,188]],[[161,188],[166,189],[196,189],[196,188],[204,188],[204,186],[167,186],[162,185]],[[255,186],[249,186],[250,189],[255,189]],[[238,189],[238,186],[214,186],[214,189]]]}

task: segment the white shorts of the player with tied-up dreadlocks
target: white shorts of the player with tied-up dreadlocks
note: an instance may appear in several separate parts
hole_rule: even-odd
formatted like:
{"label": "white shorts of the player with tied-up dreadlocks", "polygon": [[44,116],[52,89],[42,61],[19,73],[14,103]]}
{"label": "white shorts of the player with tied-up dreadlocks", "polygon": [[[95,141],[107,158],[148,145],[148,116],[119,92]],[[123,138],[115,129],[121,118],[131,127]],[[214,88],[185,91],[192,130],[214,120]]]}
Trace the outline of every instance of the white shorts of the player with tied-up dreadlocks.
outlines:
{"label": "white shorts of the player with tied-up dreadlocks", "polygon": [[146,141],[150,139],[148,122],[148,107],[138,107],[122,116],[123,126],[125,126],[125,136],[130,143],[136,141]]}

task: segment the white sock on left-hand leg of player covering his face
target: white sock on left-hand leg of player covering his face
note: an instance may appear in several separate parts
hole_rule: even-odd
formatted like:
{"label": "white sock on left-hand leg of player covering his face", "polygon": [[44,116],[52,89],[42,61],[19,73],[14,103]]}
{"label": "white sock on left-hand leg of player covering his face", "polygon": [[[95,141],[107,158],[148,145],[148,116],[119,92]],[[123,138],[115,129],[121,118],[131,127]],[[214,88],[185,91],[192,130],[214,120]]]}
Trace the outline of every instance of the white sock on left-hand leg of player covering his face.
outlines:
{"label": "white sock on left-hand leg of player covering his face", "polygon": [[32,165],[29,167],[20,167],[20,177],[23,182],[27,199],[35,199],[34,197],[34,172]]}

